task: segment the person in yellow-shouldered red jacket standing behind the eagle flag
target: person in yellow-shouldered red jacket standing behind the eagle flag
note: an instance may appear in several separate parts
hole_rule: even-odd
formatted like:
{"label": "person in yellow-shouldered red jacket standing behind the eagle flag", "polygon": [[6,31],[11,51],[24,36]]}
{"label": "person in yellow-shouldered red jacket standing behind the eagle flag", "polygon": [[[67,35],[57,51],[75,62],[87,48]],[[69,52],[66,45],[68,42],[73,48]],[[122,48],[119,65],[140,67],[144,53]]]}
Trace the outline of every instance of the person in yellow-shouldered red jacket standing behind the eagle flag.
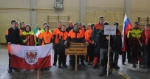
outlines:
{"label": "person in yellow-shouldered red jacket standing behind the eagle flag", "polygon": [[25,31],[22,32],[23,45],[26,46],[36,46],[36,36],[34,32],[31,31],[30,25],[26,25]]}

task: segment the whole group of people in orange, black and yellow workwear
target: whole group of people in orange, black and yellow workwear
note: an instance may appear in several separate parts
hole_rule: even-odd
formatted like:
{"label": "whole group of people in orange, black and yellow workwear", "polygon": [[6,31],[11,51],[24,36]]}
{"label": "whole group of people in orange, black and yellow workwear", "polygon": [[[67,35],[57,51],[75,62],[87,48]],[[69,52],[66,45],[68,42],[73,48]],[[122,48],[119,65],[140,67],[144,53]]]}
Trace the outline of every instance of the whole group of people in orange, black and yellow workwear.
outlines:
{"label": "whole group of people in orange, black and yellow workwear", "polygon": [[[122,64],[125,65],[126,52],[128,63],[133,64],[136,67],[136,63],[139,61],[140,67],[147,68],[150,67],[150,25],[146,24],[146,28],[142,31],[139,28],[138,22],[134,23],[134,26],[128,32],[126,36],[127,51],[122,51],[122,35],[118,29],[119,23],[114,22],[116,26],[116,35],[104,35],[105,25],[109,25],[107,21],[104,21],[104,17],[99,17],[99,22],[97,24],[89,23],[87,27],[82,25],[80,22],[72,23],[69,21],[68,27],[63,25],[61,21],[57,22],[56,29],[53,32],[50,30],[48,23],[43,24],[43,29],[40,30],[38,36],[31,31],[30,25],[25,25],[24,22],[20,24],[20,29],[18,27],[19,22],[12,20],[11,27],[6,31],[6,41],[8,43],[8,53],[9,53],[9,70],[12,69],[18,71],[16,68],[10,66],[10,44],[20,44],[26,46],[36,46],[45,45],[49,43],[54,44],[54,62],[55,66],[58,61],[58,67],[67,67],[66,65],[66,55],[65,48],[69,47],[70,42],[73,43],[86,43],[87,44],[87,56],[79,55],[77,57],[78,65],[85,65],[84,61],[88,62],[88,65],[92,65],[93,68],[100,66],[100,74],[102,76],[106,74],[107,68],[107,56],[108,51],[110,51],[110,71],[112,68],[119,69],[118,58],[122,55]],[[110,46],[108,42],[110,41]],[[71,70],[75,69],[75,56],[69,56],[69,62]],[[147,60],[145,60],[145,58]],[[99,64],[100,63],[100,64]],[[41,69],[45,70],[45,68]],[[46,68],[46,70],[48,70]]]}

